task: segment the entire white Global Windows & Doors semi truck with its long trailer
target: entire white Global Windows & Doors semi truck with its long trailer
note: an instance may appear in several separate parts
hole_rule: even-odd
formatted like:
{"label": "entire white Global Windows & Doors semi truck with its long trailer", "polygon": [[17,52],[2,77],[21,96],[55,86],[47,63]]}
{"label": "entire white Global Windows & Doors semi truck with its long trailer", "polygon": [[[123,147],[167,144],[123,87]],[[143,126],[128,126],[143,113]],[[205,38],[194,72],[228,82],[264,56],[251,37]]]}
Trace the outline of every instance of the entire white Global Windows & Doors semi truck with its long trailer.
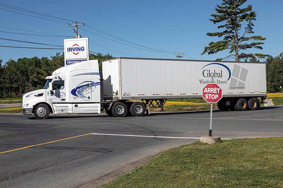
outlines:
{"label": "entire white Global Windows & Doors semi truck with its long trailer", "polygon": [[[57,114],[142,116],[167,99],[201,98],[207,83],[223,90],[218,109],[256,110],[267,96],[266,64],[145,58],[89,60],[55,70],[43,89],[22,96],[22,113],[46,119]],[[212,81],[213,80],[213,81]],[[261,99],[261,101],[260,101]],[[141,102],[131,102],[141,100]]]}

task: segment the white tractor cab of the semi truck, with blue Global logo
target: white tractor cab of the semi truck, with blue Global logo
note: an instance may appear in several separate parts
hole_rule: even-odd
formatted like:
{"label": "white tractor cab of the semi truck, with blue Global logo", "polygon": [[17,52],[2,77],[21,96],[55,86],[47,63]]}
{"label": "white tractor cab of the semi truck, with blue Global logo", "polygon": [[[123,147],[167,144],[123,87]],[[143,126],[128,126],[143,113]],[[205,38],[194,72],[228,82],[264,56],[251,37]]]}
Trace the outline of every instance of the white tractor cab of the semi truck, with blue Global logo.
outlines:
{"label": "white tractor cab of the semi truck, with blue Global logo", "polygon": [[43,89],[23,94],[22,113],[46,119],[56,114],[100,114],[101,77],[98,60],[67,65],[46,77]]}

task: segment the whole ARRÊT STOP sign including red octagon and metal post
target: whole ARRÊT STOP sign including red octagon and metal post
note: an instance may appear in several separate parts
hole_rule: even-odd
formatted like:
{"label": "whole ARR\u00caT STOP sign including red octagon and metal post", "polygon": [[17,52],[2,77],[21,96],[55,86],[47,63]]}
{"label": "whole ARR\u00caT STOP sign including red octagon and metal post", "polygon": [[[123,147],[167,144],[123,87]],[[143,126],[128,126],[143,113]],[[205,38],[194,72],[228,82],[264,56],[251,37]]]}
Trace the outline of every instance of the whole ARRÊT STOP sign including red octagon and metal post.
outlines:
{"label": "whole ARR\u00caT STOP sign including red octagon and metal post", "polygon": [[209,136],[212,130],[212,105],[222,99],[222,89],[215,83],[209,83],[202,88],[203,99],[210,103]]}

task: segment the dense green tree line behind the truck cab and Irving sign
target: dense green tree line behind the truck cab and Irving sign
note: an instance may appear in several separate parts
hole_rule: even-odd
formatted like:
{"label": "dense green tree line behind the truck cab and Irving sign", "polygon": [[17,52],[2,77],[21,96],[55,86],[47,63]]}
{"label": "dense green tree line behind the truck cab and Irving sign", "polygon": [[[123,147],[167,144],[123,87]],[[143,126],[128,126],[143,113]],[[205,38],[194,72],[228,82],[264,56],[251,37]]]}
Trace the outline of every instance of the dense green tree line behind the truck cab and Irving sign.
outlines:
{"label": "dense green tree line behind the truck cab and Irving sign", "polygon": [[[114,57],[100,53],[89,56],[90,60],[98,59],[100,70],[102,70],[102,60],[110,58]],[[64,53],[56,53],[51,58],[19,58],[17,61],[10,59],[3,65],[0,59],[0,98],[21,97],[25,91],[42,89],[46,83],[46,76],[63,67],[64,61]]]}

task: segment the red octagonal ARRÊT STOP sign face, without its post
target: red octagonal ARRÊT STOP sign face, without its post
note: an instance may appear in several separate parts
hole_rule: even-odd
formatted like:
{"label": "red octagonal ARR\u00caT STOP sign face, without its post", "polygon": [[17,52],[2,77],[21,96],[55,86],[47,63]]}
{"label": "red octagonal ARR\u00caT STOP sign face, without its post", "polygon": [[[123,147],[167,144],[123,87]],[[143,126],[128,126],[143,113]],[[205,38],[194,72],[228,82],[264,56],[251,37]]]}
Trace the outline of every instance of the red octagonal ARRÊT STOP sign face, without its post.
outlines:
{"label": "red octagonal ARR\u00caT STOP sign face, without its post", "polygon": [[222,99],[222,89],[217,84],[207,84],[202,88],[202,98],[206,102],[216,103]]}

